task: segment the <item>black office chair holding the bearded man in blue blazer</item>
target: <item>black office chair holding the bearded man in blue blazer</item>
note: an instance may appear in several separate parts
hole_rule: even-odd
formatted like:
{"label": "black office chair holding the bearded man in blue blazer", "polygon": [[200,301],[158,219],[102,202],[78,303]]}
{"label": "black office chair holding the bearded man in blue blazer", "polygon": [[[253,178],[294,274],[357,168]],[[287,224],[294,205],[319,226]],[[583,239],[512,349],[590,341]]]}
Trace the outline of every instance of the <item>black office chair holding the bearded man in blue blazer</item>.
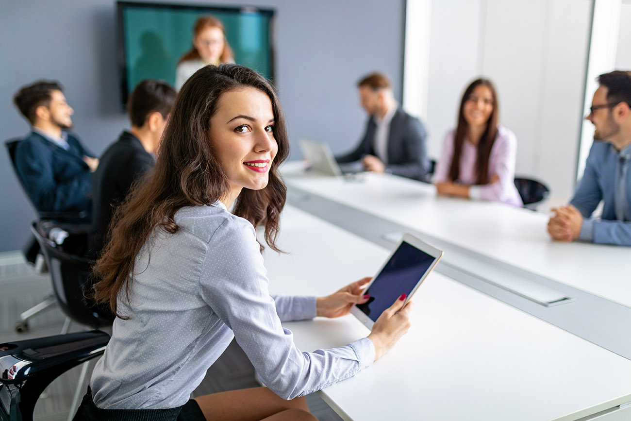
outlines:
{"label": "black office chair holding the bearded man in blue blazer", "polygon": [[[11,166],[13,167],[13,172],[15,173],[18,179],[18,182],[20,182],[20,186],[22,187],[22,190],[24,191],[24,193],[26,194],[28,198],[29,196],[27,194],[27,190],[25,189],[24,183],[22,182],[20,175],[18,174],[16,165],[15,165],[15,154],[18,148],[18,143],[20,143],[21,140],[22,140],[21,138],[9,139],[8,141],[4,142],[4,145],[6,146],[6,149],[8,151],[9,160],[11,161]],[[30,198],[29,198],[29,201],[30,201]],[[35,208],[35,205],[33,205],[33,208]],[[38,211],[37,208],[35,208],[35,210],[37,211],[37,216],[40,221],[53,220],[59,223],[63,223],[64,227],[72,231],[79,230],[79,231],[88,232],[90,230],[91,221],[88,220],[88,212],[86,211],[54,212],[54,211]],[[43,267],[40,262],[43,262],[44,259],[43,259],[43,256],[40,254],[39,245],[34,237],[30,237],[26,246],[23,248],[23,253],[24,253],[25,258],[27,259],[27,262],[35,264],[37,268]],[[57,304],[57,300],[55,299],[54,295],[50,294],[47,297],[45,297],[45,299],[42,300],[42,302],[31,307],[27,311],[22,312],[20,314],[20,320],[18,320],[15,323],[15,331],[18,333],[23,333],[23,332],[28,331],[28,319],[35,316],[35,314],[38,314],[39,312],[44,311],[45,309],[49,309],[52,305],[56,305],[56,304]]]}

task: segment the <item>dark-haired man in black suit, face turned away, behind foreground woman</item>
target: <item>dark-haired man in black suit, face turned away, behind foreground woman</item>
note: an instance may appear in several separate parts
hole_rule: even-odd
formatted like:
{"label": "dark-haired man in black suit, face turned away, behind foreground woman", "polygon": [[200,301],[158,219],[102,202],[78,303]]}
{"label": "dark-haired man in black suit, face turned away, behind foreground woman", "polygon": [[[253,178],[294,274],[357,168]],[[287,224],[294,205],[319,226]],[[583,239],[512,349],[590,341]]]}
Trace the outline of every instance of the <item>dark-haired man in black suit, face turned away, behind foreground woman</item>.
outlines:
{"label": "dark-haired man in black suit, face turned away, behind foreground woman", "polygon": [[132,184],[155,165],[153,154],[175,102],[175,90],[158,80],[144,80],[127,100],[131,129],[121,133],[101,156],[94,174],[92,211],[93,235],[90,254],[94,257],[105,246],[107,230]]}

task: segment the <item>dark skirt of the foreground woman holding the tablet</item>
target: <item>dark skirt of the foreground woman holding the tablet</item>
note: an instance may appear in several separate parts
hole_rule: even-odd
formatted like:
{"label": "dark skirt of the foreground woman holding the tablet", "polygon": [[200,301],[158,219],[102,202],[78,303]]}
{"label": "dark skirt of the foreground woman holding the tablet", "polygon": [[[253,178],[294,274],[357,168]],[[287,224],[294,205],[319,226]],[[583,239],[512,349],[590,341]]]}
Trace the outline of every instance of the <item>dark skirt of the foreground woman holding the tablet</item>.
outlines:
{"label": "dark skirt of the foreground woman holding the tablet", "polygon": [[196,401],[189,399],[178,408],[168,409],[100,409],[92,401],[92,391],[83,396],[73,421],[206,421]]}

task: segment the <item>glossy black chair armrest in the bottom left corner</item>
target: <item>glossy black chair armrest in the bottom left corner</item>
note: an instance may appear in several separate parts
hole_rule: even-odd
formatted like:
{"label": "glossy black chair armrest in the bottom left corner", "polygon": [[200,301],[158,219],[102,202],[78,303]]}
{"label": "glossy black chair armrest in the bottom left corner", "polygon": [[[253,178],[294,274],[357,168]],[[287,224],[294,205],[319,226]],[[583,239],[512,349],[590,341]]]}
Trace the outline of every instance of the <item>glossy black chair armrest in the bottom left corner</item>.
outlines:
{"label": "glossy black chair armrest in the bottom left corner", "polygon": [[50,382],[102,355],[109,340],[94,330],[0,343],[0,420],[32,421],[35,403]]}

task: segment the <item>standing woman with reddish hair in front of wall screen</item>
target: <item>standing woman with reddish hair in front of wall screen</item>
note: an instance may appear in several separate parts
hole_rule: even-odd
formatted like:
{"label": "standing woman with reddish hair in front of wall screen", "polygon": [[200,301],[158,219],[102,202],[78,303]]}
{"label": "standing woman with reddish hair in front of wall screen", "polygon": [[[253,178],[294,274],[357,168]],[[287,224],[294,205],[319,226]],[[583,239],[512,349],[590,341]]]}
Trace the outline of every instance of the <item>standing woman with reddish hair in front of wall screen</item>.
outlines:
{"label": "standing woman with reddish hair in front of wall screen", "polygon": [[233,63],[235,57],[226,39],[223,22],[213,15],[200,16],[193,26],[192,47],[175,68],[175,90],[180,90],[191,74],[208,64]]}

